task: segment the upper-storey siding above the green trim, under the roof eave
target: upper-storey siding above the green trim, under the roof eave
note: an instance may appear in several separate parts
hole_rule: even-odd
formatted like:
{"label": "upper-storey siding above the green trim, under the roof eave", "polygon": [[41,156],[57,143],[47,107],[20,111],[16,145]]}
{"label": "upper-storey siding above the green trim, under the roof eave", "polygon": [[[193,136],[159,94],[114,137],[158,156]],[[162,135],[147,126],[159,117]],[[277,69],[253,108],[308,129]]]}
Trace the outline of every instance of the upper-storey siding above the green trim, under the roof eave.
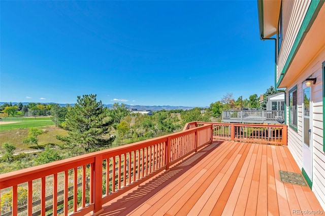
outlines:
{"label": "upper-storey siding above the green trim, under the roof eave", "polygon": [[277,81],[280,78],[284,64],[294,45],[301,24],[305,18],[309,1],[282,1],[282,45],[277,63]]}

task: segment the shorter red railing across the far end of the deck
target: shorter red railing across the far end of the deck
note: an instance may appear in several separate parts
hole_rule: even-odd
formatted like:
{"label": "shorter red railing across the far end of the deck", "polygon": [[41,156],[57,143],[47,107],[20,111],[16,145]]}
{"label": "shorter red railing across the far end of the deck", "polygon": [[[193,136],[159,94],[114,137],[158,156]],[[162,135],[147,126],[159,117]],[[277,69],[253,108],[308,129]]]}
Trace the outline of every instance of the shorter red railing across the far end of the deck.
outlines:
{"label": "shorter red railing across the far end of the deck", "polygon": [[213,138],[271,145],[287,145],[287,125],[190,122],[183,129],[213,124]]}

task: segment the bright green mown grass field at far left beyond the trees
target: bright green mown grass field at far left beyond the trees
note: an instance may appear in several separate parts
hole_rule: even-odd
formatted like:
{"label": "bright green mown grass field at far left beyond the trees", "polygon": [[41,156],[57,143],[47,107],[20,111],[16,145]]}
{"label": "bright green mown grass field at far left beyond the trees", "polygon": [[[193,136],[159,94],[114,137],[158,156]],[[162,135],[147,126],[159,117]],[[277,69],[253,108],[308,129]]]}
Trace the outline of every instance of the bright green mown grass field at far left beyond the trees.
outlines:
{"label": "bright green mown grass field at far left beyond the trees", "polygon": [[2,122],[16,122],[10,124],[1,124],[0,131],[12,130],[18,128],[43,127],[54,125],[51,117],[32,117],[32,118],[3,118]]}

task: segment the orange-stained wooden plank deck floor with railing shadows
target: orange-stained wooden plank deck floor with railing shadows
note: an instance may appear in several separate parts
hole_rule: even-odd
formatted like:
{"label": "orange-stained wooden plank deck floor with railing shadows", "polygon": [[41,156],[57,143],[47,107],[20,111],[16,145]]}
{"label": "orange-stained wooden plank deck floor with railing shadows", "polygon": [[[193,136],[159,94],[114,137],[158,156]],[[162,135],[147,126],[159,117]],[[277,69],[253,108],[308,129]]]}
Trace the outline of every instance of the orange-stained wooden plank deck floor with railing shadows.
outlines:
{"label": "orange-stained wooden plank deck floor with railing shadows", "polygon": [[100,215],[295,215],[323,211],[309,187],[280,182],[301,172],[287,147],[215,141],[133,191]]}

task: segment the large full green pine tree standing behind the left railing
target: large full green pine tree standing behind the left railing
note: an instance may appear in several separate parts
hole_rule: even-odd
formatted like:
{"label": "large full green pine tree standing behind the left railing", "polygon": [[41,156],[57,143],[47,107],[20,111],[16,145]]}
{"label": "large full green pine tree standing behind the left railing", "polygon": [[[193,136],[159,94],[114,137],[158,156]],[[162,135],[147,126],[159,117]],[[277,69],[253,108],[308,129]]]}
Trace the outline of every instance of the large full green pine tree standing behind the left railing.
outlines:
{"label": "large full green pine tree standing behind the left railing", "polygon": [[95,94],[78,96],[77,103],[67,112],[68,135],[56,136],[63,142],[60,148],[79,155],[111,146],[114,137],[107,137],[112,125],[107,114],[107,107],[96,100]]}

